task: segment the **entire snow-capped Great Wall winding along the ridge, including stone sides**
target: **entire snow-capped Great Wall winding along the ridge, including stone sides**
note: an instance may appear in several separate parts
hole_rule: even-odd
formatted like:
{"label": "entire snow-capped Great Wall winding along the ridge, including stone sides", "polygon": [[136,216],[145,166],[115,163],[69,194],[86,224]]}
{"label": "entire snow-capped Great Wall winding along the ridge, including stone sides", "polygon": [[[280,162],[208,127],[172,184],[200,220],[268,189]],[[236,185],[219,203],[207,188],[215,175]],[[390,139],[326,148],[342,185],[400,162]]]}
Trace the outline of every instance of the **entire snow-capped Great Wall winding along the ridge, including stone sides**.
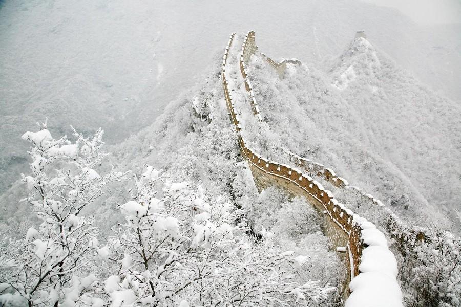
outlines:
{"label": "entire snow-capped Great Wall winding along the ridge, including stone sides", "polygon": [[[264,158],[261,153],[255,152],[255,150],[249,148],[248,143],[241,134],[242,125],[240,123],[237,109],[235,108],[236,101],[234,101],[232,93],[233,89],[229,85],[228,74],[226,72],[226,65],[228,64],[227,59],[229,53],[231,52],[234,38],[235,33],[233,33],[229,38],[222,61],[221,76],[224,96],[229,115],[238,134],[238,143],[241,155],[248,162],[258,190],[261,191],[268,186],[275,185],[282,188],[290,195],[300,195],[305,197],[313,207],[322,213],[324,233],[330,238],[334,250],[344,252],[344,279],[341,283],[341,291],[336,295],[337,305],[347,306],[349,300],[357,301],[357,296],[363,295],[363,290],[357,291],[356,289],[353,289],[354,291],[352,292],[349,288],[350,281],[359,275],[361,275],[361,278],[365,280],[368,280],[367,277],[370,274],[386,275],[386,280],[391,283],[390,288],[383,287],[383,289],[380,289],[380,284],[369,284],[368,286],[371,288],[367,289],[376,291],[378,296],[382,297],[401,296],[400,287],[396,281],[397,272],[394,272],[395,274],[387,272],[386,270],[388,270],[388,268],[380,263],[380,261],[376,261],[376,259],[373,258],[378,254],[381,256],[385,255],[386,259],[381,260],[396,264],[394,255],[388,250],[388,243],[385,235],[371,222],[367,221],[363,217],[360,217],[358,214],[354,214],[354,212],[350,209],[339,203],[336,199],[334,199],[334,196],[330,191],[325,190],[319,182],[313,180],[306,173],[303,173],[303,170],[312,171],[312,167],[315,167],[315,171],[319,176],[322,176],[325,180],[335,186],[339,188],[355,187],[350,187],[348,182],[345,179],[338,177],[333,170],[324,168],[321,164],[313,163],[312,161],[301,158],[289,151],[287,154],[291,157],[291,161],[297,165],[297,167],[280,164],[275,161],[269,161],[269,159]],[[245,89],[248,92],[249,101],[254,115],[259,121],[262,121],[256,97],[247,74],[250,57],[252,54],[258,52],[255,42],[255,32],[250,31],[247,33],[240,50],[239,69],[242,74]],[[277,71],[279,76],[283,76],[287,62],[291,61],[296,63],[296,60],[284,60],[277,63],[263,54],[261,54],[261,56]],[[379,200],[374,199],[370,194],[366,194],[364,192],[362,193],[364,198],[368,199],[374,205],[380,207],[383,206]],[[405,231],[395,231],[399,230],[400,224],[391,213],[389,213],[389,221],[387,222],[387,225],[389,229],[393,230],[393,236],[399,239],[400,242],[409,242],[411,239],[414,239],[415,234],[417,234],[415,232],[408,233]],[[379,253],[376,253],[377,251],[379,251]],[[361,264],[365,265],[361,266]],[[388,278],[389,273],[393,278]],[[369,280],[373,282],[373,279]],[[394,293],[388,293],[388,289],[393,289],[392,291]],[[354,298],[351,299],[352,297]],[[401,304],[399,306],[401,306]]]}

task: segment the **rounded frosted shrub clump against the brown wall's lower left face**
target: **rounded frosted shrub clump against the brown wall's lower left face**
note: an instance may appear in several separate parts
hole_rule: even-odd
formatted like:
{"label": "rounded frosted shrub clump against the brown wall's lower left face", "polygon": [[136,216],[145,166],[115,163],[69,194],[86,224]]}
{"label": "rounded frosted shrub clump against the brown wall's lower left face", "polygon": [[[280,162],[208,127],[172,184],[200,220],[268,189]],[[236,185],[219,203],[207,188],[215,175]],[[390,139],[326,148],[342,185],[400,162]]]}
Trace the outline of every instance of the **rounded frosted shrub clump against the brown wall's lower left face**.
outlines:
{"label": "rounded frosted shrub clump against the brown wall's lower left face", "polygon": [[[252,180],[248,176],[237,178],[234,185],[244,186]],[[283,191],[269,187],[259,195],[246,193],[238,201],[254,235],[267,229],[274,233],[272,239],[281,249],[303,254],[308,259],[303,266],[287,268],[298,282],[316,279],[322,285],[333,286],[340,282],[342,266],[336,253],[330,251],[329,239],[320,231],[319,213],[304,198],[289,199]],[[328,305],[331,299],[320,305]]]}

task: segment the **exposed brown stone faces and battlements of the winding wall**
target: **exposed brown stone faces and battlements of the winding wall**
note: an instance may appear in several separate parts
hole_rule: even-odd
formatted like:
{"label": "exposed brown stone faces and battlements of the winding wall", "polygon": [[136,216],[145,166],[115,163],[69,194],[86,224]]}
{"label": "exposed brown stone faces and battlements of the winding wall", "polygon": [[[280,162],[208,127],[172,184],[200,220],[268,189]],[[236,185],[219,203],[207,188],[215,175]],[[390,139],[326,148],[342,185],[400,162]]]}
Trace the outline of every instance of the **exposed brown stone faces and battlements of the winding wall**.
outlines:
{"label": "exposed brown stone faces and battlements of the winding wall", "polygon": [[[337,294],[338,305],[343,305],[350,294],[350,280],[361,273],[359,266],[362,261],[362,252],[364,249],[369,246],[376,246],[382,249],[387,249],[387,242],[384,238],[384,235],[379,232],[372,223],[366,221],[364,218],[361,218],[359,215],[354,214],[343,204],[340,204],[336,199],[334,199],[330,191],[325,190],[319,182],[314,181],[306,173],[303,173],[301,169],[310,171],[314,170],[317,173],[323,174],[323,176],[327,178],[328,181],[334,182],[337,186],[348,186],[347,181],[341,177],[337,177],[333,170],[324,168],[321,164],[312,163],[307,159],[298,159],[298,157],[292,153],[291,155],[294,157],[294,159],[298,159],[296,160],[295,164],[300,166],[301,169],[280,164],[275,161],[269,161],[268,159],[258,155],[257,152],[247,146],[245,139],[240,134],[242,127],[234,108],[234,98],[231,94],[231,91],[229,91],[229,85],[226,81],[225,64],[229,49],[234,39],[234,35],[235,33],[233,33],[231,38],[229,38],[229,42],[224,53],[222,82],[226,107],[231,117],[231,121],[233,122],[238,133],[238,142],[242,157],[248,162],[258,190],[261,191],[268,186],[275,185],[285,190],[288,194],[304,196],[309,201],[309,203],[318,210],[319,214],[322,214],[323,231],[331,239],[332,247],[334,249],[341,248],[338,250],[345,251],[343,257],[344,281],[342,282],[341,291]],[[245,61],[248,63],[251,54],[254,52],[256,52],[255,33],[250,31],[245,36],[245,40],[241,49],[239,65],[242,77],[245,80],[246,90],[250,95],[250,101],[252,101],[252,104],[257,107],[256,99],[251,84],[249,83],[245,64]],[[255,108],[254,113],[255,116],[259,116],[259,118],[261,118],[259,111],[255,112]],[[371,201],[374,201],[372,196],[370,199]],[[380,205],[381,202],[376,200],[376,203]],[[364,231],[368,236],[370,234],[374,237],[375,235],[381,235],[384,238],[384,241],[380,240],[379,243],[374,243],[373,240],[367,239],[365,242],[365,237],[363,235]],[[367,267],[367,272],[381,273],[381,270],[382,268],[379,266],[371,268]],[[380,285],[376,284],[375,288],[380,289]],[[382,295],[386,296],[387,294],[383,293]]]}

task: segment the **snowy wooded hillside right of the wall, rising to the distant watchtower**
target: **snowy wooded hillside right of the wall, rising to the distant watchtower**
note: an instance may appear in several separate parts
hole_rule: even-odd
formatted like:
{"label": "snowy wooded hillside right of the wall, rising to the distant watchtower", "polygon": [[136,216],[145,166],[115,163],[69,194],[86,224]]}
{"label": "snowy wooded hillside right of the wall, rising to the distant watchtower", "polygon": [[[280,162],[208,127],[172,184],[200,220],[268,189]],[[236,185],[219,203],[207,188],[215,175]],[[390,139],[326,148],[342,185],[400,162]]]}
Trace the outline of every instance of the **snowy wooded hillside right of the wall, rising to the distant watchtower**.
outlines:
{"label": "snowy wooded hillside right of the wall, rising to the distant watchtower", "polygon": [[454,217],[461,107],[364,38],[324,67],[288,63],[279,79],[254,56],[248,72],[275,142],[331,167],[410,220],[428,208]]}

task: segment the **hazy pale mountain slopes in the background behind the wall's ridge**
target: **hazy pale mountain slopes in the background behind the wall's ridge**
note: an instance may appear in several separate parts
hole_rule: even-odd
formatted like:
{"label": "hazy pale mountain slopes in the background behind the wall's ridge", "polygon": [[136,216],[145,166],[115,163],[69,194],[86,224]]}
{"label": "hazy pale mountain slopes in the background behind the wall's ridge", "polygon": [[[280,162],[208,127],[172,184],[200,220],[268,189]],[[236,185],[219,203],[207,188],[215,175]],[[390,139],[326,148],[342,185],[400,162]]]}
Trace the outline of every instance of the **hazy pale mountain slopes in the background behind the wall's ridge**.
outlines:
{"label": "hazy pale mountain slopes in the background behind the wall's ridge", "polygon": [[337,55],[363,29],[417,79],[461,97],[459,25],[423,27],[360,1],[7,0],[0,4],[0,192],[27,168],[19,137],[35,121],[48,116],[59,134],[69,134],[69,124],[103,126],[108,142],[120,142],[202,82],[230,32],[249,29],[271,56],[306,63]]}

